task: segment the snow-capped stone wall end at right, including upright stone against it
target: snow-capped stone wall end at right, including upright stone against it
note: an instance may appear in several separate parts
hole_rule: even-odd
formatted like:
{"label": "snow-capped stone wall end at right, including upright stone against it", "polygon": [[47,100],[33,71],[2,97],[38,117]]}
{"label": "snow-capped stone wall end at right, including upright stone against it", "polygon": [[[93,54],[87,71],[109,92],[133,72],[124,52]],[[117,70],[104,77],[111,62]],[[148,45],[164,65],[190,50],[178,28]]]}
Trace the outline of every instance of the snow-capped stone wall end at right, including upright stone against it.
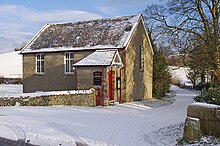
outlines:
{"label": "snow-capped stone wall end at right, including upright stone against it", "polygon": [[220,106],[207,103],[188,106],[184,138],[195,141],[201,135],[220,137]]}

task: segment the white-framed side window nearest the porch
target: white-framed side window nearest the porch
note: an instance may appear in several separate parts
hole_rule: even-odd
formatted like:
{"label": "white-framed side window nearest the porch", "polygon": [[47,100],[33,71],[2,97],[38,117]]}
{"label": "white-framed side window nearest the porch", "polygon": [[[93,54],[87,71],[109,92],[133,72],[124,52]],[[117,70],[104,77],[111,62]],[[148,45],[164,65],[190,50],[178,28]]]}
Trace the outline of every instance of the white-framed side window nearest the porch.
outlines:
{"label": "white-framed side window nearest the porch", "polygon": [[65,53],[65,73],[71,74],[73,73],[73,53],[68,52]]}

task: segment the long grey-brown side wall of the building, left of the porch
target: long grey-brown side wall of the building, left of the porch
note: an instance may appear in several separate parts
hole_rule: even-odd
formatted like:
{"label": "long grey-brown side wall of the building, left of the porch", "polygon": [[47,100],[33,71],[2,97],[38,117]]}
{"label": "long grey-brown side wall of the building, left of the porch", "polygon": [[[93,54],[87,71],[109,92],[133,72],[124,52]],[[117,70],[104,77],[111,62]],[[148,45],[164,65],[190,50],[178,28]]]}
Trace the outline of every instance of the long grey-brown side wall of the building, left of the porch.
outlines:
{"label": "long grey-brown side wall of the building, left of the porch", "polygon": [[[67,51],[68,52],[68,51]],[[72,51],[74,62],[92,51]],[[60,91],[77,89],[76,73],[65,73],[65,52],[44,53],[44,74],[36,73],[36,54],[23,54],[23,91]]]}

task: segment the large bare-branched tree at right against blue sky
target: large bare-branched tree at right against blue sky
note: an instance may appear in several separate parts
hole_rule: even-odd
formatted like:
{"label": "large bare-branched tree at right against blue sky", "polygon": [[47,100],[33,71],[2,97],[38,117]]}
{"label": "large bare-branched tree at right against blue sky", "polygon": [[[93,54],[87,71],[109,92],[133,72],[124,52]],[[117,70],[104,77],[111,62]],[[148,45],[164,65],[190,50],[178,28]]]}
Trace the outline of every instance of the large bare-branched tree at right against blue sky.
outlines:
{"label": "large bare-branched tree at right against blue sky", "polygon": [[168,0],[144,13],[148,26],[157,31],[155,38],[187,53],[199,50],[203,67],[220,83],[219,10],[220,0]]}

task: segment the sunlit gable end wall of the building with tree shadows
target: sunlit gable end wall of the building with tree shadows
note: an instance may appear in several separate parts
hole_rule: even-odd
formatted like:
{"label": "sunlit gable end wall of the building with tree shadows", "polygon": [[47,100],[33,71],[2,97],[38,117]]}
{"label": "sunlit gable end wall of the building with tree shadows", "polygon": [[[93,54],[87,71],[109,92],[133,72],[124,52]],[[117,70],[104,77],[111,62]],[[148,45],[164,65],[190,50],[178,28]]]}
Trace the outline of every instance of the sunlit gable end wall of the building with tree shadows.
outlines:
{"label": "sunlit gable end wall of the building with tree shadows", "polygon": [[139,20],[126,47],[125,64],[126,99],[124,100],[152,98],[153,52],[142,19]]}

